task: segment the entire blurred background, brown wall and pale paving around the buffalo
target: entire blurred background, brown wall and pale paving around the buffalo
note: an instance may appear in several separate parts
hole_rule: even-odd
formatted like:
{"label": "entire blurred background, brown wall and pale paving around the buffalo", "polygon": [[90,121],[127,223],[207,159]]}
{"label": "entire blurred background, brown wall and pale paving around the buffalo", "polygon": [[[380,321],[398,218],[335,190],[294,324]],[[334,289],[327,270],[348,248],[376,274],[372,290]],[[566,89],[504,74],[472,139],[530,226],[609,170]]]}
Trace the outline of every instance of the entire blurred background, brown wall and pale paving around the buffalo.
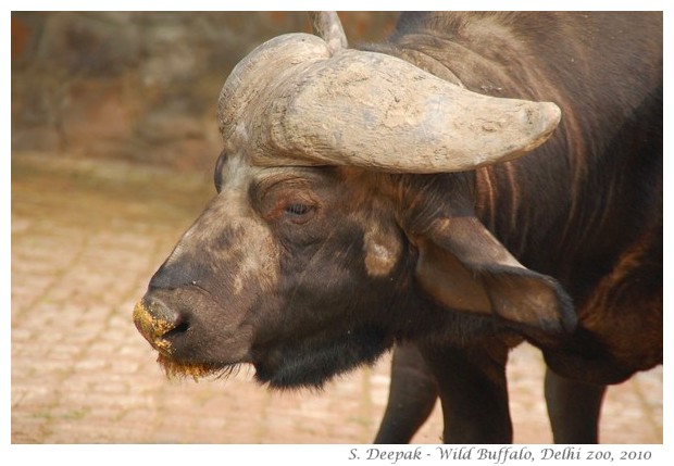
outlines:
{"label": "entire blurred background, brown wall and pale paving around the buffalo", "polygon": [[[397,14],[340,13],[351,43]],[[11,441],[366,443],[389,357],[323,392],[269,392],[247,368],[167,380],[134,303],[213,196],[216,102],[232,67],[301,12],[13,12]],[[508,368],[515,442],[549,443],[544,364]],[[439,406],[414,438],[439,443]],[[608,443],[662,442],[662,368],[612,387]]]}

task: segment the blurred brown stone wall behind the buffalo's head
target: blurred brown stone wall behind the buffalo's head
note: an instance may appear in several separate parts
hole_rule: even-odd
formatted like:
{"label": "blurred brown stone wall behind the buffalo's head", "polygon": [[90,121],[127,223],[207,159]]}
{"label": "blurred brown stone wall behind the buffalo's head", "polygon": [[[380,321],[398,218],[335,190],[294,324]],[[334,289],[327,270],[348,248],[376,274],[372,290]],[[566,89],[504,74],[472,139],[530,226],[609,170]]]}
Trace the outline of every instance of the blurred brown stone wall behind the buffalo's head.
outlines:
{"label": "blurred brown stone wall behind the buffalo's head", "polygon": [[[395,13],[340,13],[351,43]],[[12,150],[210,168],[232,67],[302,12],[13,12]]]}

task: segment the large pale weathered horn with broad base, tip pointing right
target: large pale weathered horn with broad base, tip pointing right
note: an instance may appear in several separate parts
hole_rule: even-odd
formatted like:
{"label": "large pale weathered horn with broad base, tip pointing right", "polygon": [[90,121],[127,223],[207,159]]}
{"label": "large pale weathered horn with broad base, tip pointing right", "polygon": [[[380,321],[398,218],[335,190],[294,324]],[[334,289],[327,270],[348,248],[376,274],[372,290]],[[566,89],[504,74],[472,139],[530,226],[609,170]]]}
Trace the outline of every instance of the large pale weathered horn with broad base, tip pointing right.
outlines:
{"label": "large pale weathered horn with broad base, tip pointing right", "polygon": [[330,58],[305,36],[261,46],[225,83],[223,136],[242,130],[253,164],[459,172],[535,149],[560,121],[553,103],[471,92],[382,53]]}

